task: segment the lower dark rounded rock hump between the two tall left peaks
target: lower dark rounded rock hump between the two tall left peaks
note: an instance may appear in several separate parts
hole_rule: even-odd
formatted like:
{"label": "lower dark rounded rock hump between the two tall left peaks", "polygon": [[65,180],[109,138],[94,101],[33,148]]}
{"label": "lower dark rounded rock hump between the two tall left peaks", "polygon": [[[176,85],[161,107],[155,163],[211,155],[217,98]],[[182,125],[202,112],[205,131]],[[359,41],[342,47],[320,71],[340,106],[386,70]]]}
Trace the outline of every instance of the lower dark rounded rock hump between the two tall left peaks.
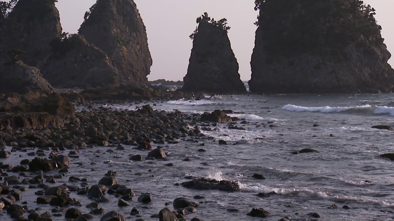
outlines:
{"label": "lower dark rounded rock hump between the two tall left peaks", "polygon": [[62,41],[56,39],[51,45],[51,56],[43,75],[53,86],[119,86],[119,74],[111,60],[81,35],[74,34]]}

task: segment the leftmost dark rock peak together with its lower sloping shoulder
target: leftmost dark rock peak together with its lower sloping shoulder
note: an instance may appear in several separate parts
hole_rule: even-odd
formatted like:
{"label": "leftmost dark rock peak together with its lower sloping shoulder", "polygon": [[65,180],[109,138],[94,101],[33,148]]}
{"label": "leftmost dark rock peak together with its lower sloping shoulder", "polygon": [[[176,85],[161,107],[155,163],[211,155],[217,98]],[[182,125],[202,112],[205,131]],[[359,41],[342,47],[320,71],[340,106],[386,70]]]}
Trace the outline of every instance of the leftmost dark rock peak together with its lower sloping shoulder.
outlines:
{"label": "leftmost dark rock peak together with its lower sloping shoulder", "polygon": [[[9,51],[19,49],[24,54],[18,59],[39,68],[53,86],[119,86],[106,53],[78,34],[62,33],[55,0],[19,0],[0,26],[0,65],[10,61]],[[15,79],[9,71],[4,74]]]}

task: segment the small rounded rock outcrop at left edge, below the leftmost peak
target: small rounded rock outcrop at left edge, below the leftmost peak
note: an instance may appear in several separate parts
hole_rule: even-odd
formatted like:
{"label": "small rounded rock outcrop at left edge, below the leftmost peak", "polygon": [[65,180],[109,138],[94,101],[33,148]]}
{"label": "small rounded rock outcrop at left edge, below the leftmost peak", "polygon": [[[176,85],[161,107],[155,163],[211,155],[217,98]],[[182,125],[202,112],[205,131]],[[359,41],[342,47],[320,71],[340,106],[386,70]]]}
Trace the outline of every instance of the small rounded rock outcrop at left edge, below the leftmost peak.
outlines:
{"label": "small rounded rock outcrop at left edge, below the leftmost peak", "polygon": [[50,94],[52,86],[41,75],[40,70],[18,61],[15,64],[0,64],[0,94],[42,91]]}

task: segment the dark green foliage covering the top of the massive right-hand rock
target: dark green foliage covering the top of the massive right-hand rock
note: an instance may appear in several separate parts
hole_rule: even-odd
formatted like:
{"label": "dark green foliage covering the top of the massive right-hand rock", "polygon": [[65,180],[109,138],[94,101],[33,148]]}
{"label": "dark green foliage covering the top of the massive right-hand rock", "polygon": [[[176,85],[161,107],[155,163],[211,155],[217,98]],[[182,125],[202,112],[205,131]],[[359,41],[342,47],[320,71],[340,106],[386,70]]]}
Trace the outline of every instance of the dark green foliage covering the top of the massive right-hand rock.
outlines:
{"label": "dark green foliage covering the top of the massive right-hand rock", "polygon": [[375,9],[362,0],[255,0],[255,10],[260,10],[255,24],[262,29],[264,46],[273,52],[331,48],[325,53],[340,54],[361,36],[383,42]]}

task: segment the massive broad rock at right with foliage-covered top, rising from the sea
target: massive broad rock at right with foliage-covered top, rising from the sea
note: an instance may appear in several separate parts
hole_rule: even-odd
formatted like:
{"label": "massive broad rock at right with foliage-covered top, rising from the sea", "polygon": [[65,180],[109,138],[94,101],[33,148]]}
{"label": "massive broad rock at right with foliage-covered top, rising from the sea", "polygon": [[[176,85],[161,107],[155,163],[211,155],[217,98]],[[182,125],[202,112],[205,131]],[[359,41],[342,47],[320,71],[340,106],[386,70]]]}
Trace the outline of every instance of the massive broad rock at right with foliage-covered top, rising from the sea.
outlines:
{"label": "massive broad rock at right with foliage-covered top, rising from the sea", "polygon": [[249,87],[258,93],[393,92],[374,9],[353,0],[256,0]]}

